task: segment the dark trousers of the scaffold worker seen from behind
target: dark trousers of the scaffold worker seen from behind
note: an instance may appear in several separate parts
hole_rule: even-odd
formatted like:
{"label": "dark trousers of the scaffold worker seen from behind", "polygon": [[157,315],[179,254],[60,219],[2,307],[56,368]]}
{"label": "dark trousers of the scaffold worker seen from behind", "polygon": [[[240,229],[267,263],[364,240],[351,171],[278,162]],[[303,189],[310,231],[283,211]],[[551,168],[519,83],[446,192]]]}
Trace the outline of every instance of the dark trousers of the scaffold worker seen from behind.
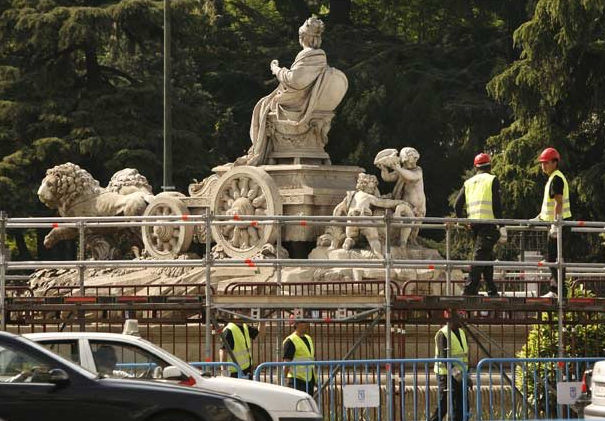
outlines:
{"label": "dark trousers of the scaffold worker seen from behind", "polygon": [[[494,260],[494,246],[500,238],[495,225],[473,225],[473,260]],[[498,288],[494,284],[493,266],[472,266],[471,273],[464,285],[464,295],[477,295],[479,293],[479,280],[483,275],[489,296],[498,296]]]}

